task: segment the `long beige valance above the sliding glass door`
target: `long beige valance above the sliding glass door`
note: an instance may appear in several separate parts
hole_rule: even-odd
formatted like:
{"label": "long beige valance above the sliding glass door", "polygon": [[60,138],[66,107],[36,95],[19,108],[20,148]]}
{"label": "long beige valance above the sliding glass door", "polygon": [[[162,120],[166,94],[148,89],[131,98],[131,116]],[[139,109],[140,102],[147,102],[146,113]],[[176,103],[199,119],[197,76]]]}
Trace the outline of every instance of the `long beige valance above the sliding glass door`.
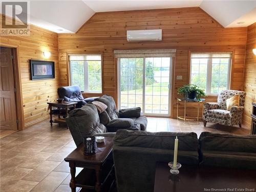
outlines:
{"label": "long beige valance above the sliding glass door", "polygon": [[114,50],[115,57],[175,57],[176,49]]}

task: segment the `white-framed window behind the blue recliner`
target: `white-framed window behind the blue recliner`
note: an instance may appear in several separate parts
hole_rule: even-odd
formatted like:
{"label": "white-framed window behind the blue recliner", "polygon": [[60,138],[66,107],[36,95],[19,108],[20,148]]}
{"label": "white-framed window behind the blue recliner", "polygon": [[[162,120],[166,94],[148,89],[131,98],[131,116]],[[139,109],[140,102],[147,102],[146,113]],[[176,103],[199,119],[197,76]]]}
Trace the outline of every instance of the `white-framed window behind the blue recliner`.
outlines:
{"label": "white-framed window behind the blue recliner", "polygon": [[102,93],[101,55],[69,55],[70,84],[86,93]]}

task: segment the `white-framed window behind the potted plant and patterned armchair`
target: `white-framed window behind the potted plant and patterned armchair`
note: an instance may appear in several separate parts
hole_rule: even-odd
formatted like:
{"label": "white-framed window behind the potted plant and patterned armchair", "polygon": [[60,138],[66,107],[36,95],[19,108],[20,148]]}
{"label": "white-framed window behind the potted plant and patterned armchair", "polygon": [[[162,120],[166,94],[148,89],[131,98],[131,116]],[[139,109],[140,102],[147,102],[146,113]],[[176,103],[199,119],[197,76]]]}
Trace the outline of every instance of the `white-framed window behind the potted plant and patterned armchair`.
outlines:
{"label": "white-framed window behind the potted plant and patterned armchair", "polygon": [[207,95],[229,89],[232,53],[191,53],[190,84]]}

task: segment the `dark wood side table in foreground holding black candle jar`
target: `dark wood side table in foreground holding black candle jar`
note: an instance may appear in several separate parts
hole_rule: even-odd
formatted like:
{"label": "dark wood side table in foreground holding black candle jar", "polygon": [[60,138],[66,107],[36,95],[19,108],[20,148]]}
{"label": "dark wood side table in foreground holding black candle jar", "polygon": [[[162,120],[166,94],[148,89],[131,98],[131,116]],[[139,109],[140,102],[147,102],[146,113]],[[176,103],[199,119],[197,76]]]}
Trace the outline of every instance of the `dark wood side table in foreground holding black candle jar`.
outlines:
{"label": "dark wood side table in foreground holding black candle jar", "polygon": [[[114,162],[112,157],[113,138],[105,137],[104,142],[96,144],[96,154],[83,155],[81,143],[68,157],[72,192],[76,187],[91,189],[92,191],[108,191],[115,181]],[[75,177],[76,167],[83,170]]]}

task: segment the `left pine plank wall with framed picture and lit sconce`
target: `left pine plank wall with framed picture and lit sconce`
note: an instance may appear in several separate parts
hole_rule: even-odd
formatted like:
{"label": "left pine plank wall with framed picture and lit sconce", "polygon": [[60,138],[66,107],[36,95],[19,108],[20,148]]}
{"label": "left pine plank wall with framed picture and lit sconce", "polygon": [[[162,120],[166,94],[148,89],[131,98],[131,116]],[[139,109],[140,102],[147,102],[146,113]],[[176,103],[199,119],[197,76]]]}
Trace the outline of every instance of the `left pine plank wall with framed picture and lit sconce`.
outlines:
{"label": "left pine plank wall with framed picture and lit sconce", "polygon": [[[30,30],[30,36],[1,36],[0,39],[1,46],[18,49],[25,128],[49,117],[47,102],[58,98],[59,87],[58,34],[32,25]],[[51,52],[50,58],[44,58],[44,51]],[[55,79],[30,80],[31,58],[54,61]]]}

